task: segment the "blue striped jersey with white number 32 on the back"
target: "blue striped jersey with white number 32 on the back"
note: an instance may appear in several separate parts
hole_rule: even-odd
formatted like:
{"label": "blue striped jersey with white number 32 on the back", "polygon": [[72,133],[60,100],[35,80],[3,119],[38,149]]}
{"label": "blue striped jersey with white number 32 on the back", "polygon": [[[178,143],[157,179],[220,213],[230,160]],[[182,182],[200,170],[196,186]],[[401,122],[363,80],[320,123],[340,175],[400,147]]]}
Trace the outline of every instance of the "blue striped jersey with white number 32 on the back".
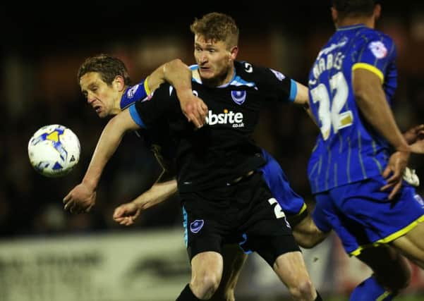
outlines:
{"label": "blue striped jersey with white number 32 on the back", "polygon": [[320,126],[308,164],[313,193],[382,173],[389,145],[361,116],[353,95],[353,70],[364,68],[382,82],[391,105],[396,90],[396,48],[390,37],[365,25],[339,27],[309,74],[310,106]]}

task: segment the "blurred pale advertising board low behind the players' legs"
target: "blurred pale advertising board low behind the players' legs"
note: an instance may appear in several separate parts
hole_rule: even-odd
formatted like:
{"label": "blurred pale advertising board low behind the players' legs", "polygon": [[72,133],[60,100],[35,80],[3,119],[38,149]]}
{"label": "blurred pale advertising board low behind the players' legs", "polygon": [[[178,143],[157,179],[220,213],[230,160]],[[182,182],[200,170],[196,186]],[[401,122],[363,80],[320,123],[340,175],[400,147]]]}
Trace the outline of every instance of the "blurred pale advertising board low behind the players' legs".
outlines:
{"label": "blurred pale advertising board low behind the players' legs", "polygon": [[[346,295],[370,276],[334,235],[303,254],[322,293]],[[182,228],[0,241],[0,301],[169,301],[188,281]],[[408,292],[423,285],[423,271],[413,266]],[[286,294],[270,266],[250,255],[237,300]]]}

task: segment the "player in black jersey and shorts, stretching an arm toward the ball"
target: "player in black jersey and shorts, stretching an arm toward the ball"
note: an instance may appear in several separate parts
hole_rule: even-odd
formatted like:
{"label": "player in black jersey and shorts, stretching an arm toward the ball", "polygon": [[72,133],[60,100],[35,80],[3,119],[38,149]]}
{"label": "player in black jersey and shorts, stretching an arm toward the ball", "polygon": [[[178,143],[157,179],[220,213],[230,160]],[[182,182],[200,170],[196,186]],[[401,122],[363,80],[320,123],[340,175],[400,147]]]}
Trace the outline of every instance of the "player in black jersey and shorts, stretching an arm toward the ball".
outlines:
{"label": "player in black jersey and shorts, stretching an arm toward the ball", "polygon": [[[277,200],[257,170],[265,164],[251,134],[264,102],[307,104],[305,87],[276,70],[235,61],[238,28],[231,17],[210,13],[195,33],[193,93],[209,107],[198,130],[181,113],[174,88],[161,85],[106,125],[85,174],[97,185],[104,165],[127,130],[169,124],[176,139],[177,182],[186,218],[192,279],[177,300],[207,300],[222,276],[221,248],[238,242],[274,268],[295,300],[321,300]],[[71,207],[80,199],[66,197]]]}

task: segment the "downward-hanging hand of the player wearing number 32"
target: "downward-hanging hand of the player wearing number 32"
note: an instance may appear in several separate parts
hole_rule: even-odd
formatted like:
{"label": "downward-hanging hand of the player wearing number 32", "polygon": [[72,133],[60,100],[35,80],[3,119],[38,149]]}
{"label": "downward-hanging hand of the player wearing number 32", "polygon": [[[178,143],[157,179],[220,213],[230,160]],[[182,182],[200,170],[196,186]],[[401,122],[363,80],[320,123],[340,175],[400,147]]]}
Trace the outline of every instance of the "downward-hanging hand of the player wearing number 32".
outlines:
{"label": "downward-hanging hand of the player wearing number 32", "polygon": [[409,152],[394,152],[389,158],[386,169],[383,171],[382,176],[387,179],[387,185],[384,185],[381,190],[393,188],[389,194],[389,199],[393,199],[394,195],[401,189],[402,175],[408,165],[409,155]]}

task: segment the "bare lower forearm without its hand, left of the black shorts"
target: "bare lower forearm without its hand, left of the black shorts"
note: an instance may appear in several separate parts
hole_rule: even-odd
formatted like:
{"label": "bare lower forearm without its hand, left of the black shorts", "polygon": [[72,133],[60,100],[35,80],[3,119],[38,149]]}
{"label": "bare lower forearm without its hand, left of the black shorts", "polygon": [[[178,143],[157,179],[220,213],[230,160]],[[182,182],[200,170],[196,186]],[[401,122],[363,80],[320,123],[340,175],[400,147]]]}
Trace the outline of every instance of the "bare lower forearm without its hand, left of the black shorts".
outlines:
{"label": "bare lower forearm without its hand, left of the black shorts", "polygon": [[177,192],[176,180],[170,180],[163,183],[155,183],[152,188],[144,192],[133,200],[140,209],[147,209],[155,206],[165,199],[168,199]]}

